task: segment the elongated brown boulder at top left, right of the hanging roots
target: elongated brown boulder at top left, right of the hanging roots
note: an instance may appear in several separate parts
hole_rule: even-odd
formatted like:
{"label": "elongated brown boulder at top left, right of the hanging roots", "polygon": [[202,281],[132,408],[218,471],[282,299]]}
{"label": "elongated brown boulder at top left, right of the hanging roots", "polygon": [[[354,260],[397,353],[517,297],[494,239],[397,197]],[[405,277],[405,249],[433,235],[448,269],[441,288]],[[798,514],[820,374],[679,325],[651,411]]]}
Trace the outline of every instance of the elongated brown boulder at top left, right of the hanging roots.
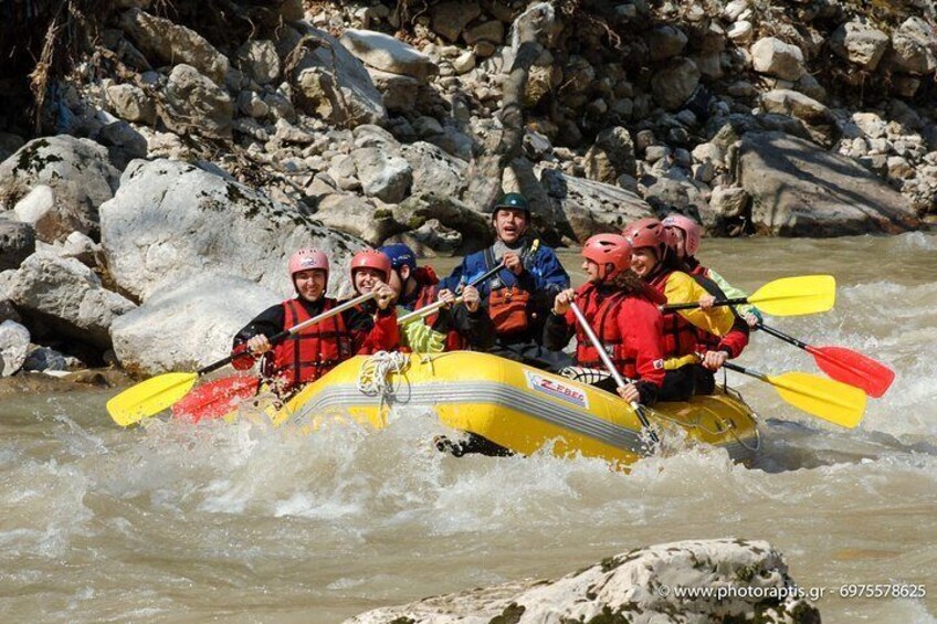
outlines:
{"label": "elongated brown boulder at top left, right of the hanging roots", "polygon": [[150,60],[166,65],[185,63],[196,67],[215,85],[224,84],[228,57],[196,31],[139,9],[130,9],[120,15],[120,28]]}

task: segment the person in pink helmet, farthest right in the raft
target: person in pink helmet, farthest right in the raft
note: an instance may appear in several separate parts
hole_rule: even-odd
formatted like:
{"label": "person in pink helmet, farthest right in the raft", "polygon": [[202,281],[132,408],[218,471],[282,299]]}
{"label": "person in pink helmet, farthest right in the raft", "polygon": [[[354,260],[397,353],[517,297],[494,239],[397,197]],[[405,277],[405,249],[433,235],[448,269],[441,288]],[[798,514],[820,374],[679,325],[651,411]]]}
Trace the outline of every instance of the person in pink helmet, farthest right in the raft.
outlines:
{"label": "person in pink helmet, farthest right in the raft", "polygon": [[[734,290],[729,295],[719,283],[719,281],[725,283],[725,279],[715,272],[710,272],[696,260],[695,254],[699,248],[699,240],[703,233],[702,228],[696,221],[683,214],[670,214],[661,224],[671,234],[667,242],[677,261],[681,263],[681,268],[693,276],[708,293],[708,296],[699,299],[702,309],[713,309],[713,303],[716,299],[726,299],[729,296],[745,296],[740,290]],[[696,352],[701,357],[699,364],[702,366],[702,370],[697,369],[696,371],[697,394],[712,394],[716,389],[716,379],[713,373],[719,370],[726,360],[739,357],[748,345],[749,324],[741,317],[738,310],[734,308],[729,309],[735,311],[735,321],[728,334],[719,337],[702,329],[697,329],[696,331]]]}

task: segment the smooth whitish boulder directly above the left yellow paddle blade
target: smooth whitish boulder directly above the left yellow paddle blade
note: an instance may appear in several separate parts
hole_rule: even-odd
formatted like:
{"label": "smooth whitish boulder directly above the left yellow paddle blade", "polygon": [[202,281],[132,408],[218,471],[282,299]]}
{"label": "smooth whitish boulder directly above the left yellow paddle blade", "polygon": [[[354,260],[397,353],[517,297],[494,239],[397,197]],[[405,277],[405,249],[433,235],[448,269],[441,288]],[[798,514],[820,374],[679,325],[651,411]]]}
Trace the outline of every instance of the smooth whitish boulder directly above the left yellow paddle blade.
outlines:
{"label": "smooth whitish boulder directly above the left yellow paddle blade", "polygon": [[169,283],[110,326],[120,364],[138,374],[196,370],[231,351],[231,339],[282,294],[227,274]]}

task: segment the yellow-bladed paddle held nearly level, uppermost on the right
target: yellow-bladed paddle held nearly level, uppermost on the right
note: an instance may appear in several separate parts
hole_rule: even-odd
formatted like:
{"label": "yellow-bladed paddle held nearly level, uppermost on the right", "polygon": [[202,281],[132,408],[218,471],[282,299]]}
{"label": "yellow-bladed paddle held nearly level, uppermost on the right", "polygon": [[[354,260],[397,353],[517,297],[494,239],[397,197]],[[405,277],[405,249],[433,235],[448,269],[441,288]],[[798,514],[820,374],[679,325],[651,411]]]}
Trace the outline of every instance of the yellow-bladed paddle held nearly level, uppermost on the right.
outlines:
{"label": "yellow-bladed paddle held nearly level, uppermost on the right", "polygon": [[[836,281],[832,275],[803,275],[768,282],[747,297],[716,300],[714,306],[754,304],[771,316],[819,314],[832,309],[836,300]],[[664,310],[688,310],[696,302],[667,304]]]}

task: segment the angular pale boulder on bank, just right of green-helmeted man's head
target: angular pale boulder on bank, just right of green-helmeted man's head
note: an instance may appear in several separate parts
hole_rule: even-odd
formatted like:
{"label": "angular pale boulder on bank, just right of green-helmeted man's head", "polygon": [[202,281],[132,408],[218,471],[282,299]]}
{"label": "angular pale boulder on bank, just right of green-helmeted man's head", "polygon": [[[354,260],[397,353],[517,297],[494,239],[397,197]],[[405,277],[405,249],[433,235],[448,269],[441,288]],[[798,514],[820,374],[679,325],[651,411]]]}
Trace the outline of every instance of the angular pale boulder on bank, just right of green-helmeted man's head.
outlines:
{"label": "angular pale boulder on bank, just right of green-helmeted man's head", "polygon": [[625,189],[545,169],[546,189],[560,235],[585,243],[592,234],[620,232],[629,222],[651,215],[651,205]]}

